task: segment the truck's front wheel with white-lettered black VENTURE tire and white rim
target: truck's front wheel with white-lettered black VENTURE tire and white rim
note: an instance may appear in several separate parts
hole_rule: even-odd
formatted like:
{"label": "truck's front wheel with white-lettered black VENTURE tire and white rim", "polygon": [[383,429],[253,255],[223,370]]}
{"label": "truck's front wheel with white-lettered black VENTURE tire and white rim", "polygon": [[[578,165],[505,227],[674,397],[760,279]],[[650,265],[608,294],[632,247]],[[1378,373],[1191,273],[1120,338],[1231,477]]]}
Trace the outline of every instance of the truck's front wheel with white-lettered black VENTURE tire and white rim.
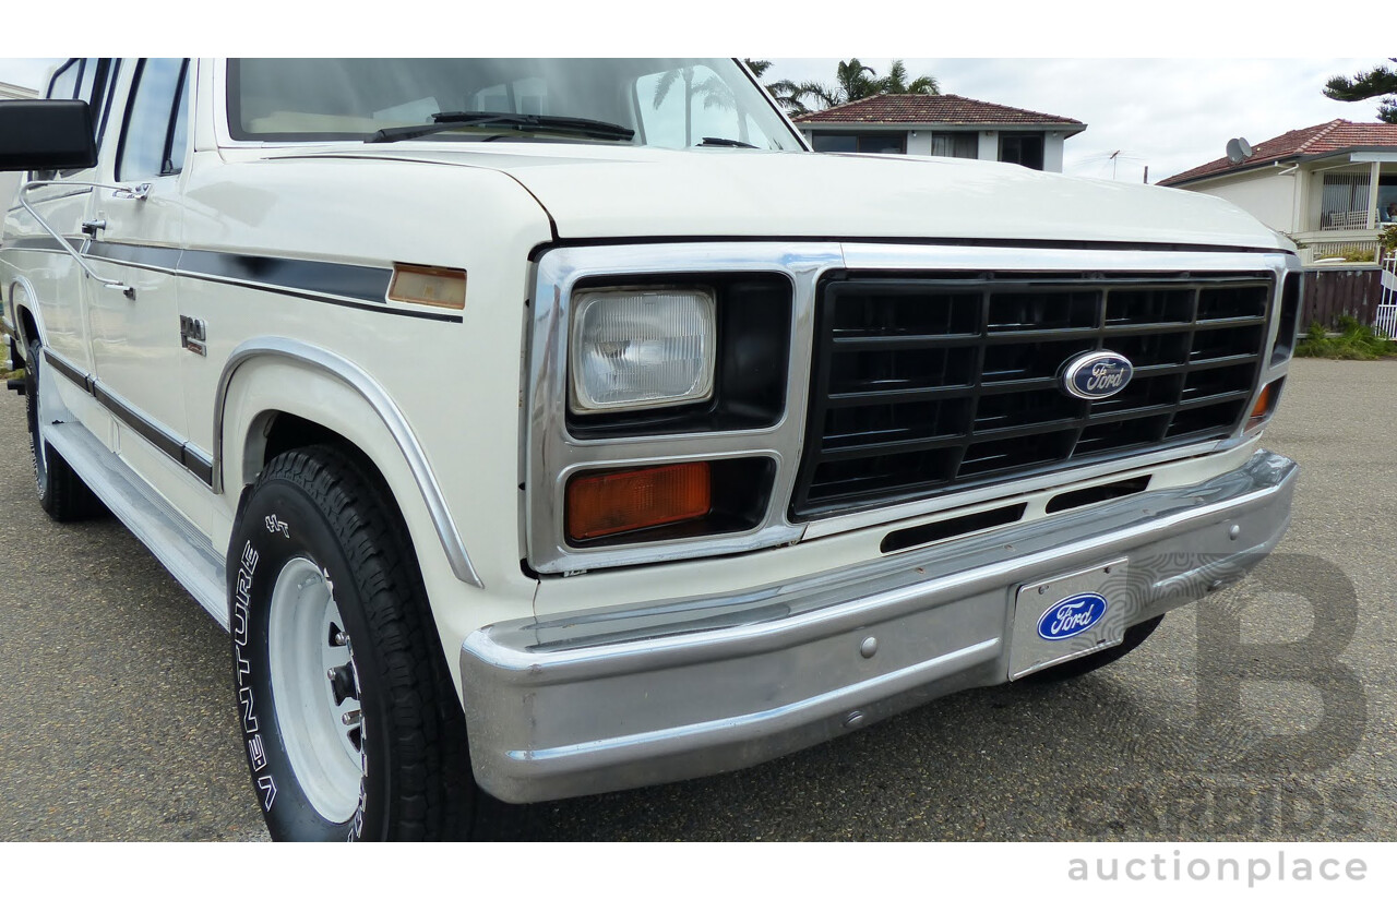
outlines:
{"label": "truck's front wheel with white-lettered black VENTURE tire and white rim", "polygon": [[[233,527],[228,555],[233,671],[253,786],[275,840],[467,837],[476,788],[465,749],[465,717],[404,537],[407,527],[386,488],[365,472],[355,458],[331,447],[282,453],[250,488]],[[288,599],[288,589],[277,594],[275,615],[274,589],[284,575],[307,571],[307,561],[328,576],[321,593],[312,590],[312,596],[328,597],[326,608],[331,615],[338,610],[348,635],[345,649],[356,688],[349,693],[358,696],[342,703],[358,702],[362,710],[358,741],[352,730],[348,733],[359,749],[358,770],[349,773],[351,780],[358,779],[353,809],[324,801],[331,797],[342,804],[344,791],[323,793],[319,808],[310,798],[307,790],[317,784],[338,788],[344,779],[303,784],[295,760],[302,760],[303,772],[314,772],[305,760],[316,753],[326,753],[334,766],[342,760],[324,741],[312,745],[316,742],[306,740],[306,733],[314,731],[306,724],[313,719],[307,707],[286,702],[289,709],[282,709],[274,692],[274,682],[284,688],[295,684],[286,673],[305,673],[303,666],[319,664],[317,653],[327,653],[324,647],[298,647],[312,660],[300,663],[284,650],[285,638],[271,633],[274,628],[279,635],[295,633],[284,622],[292,621],[288,610],[306,596],[306,582],[295,599]],[[300,618],[314,621],[310,613]],[[334,620],[324,640],[327,646],[337,643]],[[324,684],[331,684],[328,677]],[[288,698],[292,693],[286,688]],[[331,719],[338,713],[332,706],[338,698],[334,693],[326,702]],[[344,745],[338,749],[348,752]]]}

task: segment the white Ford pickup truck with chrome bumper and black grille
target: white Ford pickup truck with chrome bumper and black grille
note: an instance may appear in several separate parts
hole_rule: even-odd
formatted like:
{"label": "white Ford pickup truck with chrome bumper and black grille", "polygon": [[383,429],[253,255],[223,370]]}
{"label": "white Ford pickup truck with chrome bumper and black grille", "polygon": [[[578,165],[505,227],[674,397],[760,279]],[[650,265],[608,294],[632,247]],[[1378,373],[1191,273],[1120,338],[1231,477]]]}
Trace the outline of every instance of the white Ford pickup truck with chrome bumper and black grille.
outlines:
{"label": "white Ford pickup truck with chrome bumper and black grille", "polygon": [[228,627],[278,839],[1094,670],[1289,520],[1299,264],[1210,197],[817,155],[733,60],[70,60],[0,105],[39,502]]}

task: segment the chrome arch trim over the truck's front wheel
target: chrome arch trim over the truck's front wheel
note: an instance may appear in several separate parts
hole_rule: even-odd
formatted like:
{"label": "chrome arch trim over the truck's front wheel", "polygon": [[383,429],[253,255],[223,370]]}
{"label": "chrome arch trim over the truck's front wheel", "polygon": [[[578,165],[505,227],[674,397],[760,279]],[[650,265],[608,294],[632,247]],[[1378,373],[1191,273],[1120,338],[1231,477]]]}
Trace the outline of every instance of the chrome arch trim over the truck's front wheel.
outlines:
{"label": "chrome arch trim over the truck's front wheel", "polygon": [[237,345],[229,354],[228,363],[224,364],[224,371],[218,378],[218,392],[214,395],[212,488],[215,494],[224,493],[224,410],[228,402],[228,391],[237,370],[254,359],[291,360],[330,375],[359,393],[373,407],[374,413],[379,414],[379,420],[388,430],[388,434],[393,435],[398,449],[402,452],[402,459],[408,463],[412,479],[418,484],[418,491],[422,494],[422,502],[426,504],[427,513],[432,516],[432,526],[436,529],[437,540],[441,541],[441,551],[451,565],[451,572],[467,585],[485,587],[479,573],[475,571],[475,565],[471,564],[471,555],[461,540],[461,532],[455,526],[455,519],[451,518],[451,509],[441,494],[441,486],[432,472],[426,452],[423,452],[422,444],[418,441],[416,434],[414,434],[412,427],[408,426],[402,412],[388,396],[388,392],[383,389],[383,385],[374,381],[369,373],[324,347],[291,338],[256,338]]}

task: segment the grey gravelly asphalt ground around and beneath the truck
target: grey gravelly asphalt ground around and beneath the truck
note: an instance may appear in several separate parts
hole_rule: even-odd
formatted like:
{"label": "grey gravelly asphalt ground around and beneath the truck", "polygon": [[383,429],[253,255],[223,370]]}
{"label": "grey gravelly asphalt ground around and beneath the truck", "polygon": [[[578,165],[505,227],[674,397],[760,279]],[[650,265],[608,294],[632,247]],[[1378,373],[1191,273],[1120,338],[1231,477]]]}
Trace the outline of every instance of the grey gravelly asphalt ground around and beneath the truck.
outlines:
{"label": "grey gravelly asphalt ground around and beneath the truck", "polygon": [[[735,774],[492,809],[500,836],[1397,840],[1394,396],[1394,363],[1298,360],[1266,441],[1303,466],[1284,544],[1105,670]],[[115,520],[43,516],[14,393],[0,447],[0,839],[265,839],[224,632]]]}

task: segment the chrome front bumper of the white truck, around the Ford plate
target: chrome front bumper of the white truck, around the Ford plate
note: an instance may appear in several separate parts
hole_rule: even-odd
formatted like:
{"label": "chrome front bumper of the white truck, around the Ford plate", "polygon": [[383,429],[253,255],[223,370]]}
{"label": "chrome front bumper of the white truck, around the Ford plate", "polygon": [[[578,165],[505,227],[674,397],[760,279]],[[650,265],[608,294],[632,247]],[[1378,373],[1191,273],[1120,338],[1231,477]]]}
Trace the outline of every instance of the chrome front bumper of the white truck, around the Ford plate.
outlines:
{"label": "chrome front bumper of the white truck, around the Ford plate", "polygon": [[785,585],[489,625],[461,645],[476,780],[532,802],[714,774],[1002,684],[1020,585],[1126,557],[1126,625],[1197,600],[1280,541],[1296,472],[1263,451]]}

